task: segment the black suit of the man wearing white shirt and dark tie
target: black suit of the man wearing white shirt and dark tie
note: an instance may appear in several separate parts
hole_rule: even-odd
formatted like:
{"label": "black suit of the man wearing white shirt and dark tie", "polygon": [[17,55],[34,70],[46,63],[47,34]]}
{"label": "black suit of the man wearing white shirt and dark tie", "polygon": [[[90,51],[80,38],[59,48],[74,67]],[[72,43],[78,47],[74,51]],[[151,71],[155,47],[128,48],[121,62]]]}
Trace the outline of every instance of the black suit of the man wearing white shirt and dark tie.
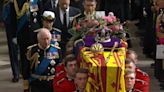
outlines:
{"label": "black suit of the man wearing white shirt and dark tie", "polygon": [[60,9],[59,9],[59,7],[57,7],[55,9],[56,20],[54,22],[54,27],[62,30],[61,43],[60,43],[61,48],[62,48],[62,56],[64,56],[64,54],[65,54],[66,43],[71,38],[71,34],[68,33],[68,29],[70,29],[72,27],[72,21],[70,21],[70,18],[80,14],[80,10],[70,6],[68,12],[69,12],[69,23],[68,23],[68,26],[64,26],[62,24],[61,19],[60,19]]}

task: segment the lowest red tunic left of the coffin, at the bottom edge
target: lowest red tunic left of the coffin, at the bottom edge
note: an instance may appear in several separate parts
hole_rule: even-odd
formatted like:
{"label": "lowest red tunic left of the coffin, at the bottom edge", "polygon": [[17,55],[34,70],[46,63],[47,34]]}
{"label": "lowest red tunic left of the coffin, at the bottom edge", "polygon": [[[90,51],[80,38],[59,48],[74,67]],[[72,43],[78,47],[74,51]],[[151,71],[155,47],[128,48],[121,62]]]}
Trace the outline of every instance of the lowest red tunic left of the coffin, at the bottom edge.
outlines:
{"label": "lowest red tunic left of the coffin, at the bottom edge", "polygon": [[74,80],[68,77],[58,80],[53,86],[54,92],[74,92],[76,90]]}

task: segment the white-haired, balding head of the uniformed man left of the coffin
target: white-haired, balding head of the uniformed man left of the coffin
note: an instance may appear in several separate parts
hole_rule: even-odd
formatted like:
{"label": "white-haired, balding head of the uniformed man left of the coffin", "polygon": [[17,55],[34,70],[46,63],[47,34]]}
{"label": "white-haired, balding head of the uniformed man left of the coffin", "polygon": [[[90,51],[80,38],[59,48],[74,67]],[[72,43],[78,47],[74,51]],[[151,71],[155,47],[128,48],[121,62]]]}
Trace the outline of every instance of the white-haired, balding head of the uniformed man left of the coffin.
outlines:
{"label": "white-haired, balding head of the uniformed man left of the coffin", "polygon": [[42,48],[47,48],[50,46],[50,41],[51,41],[51,33],[48,29],[46,28],[40,28],[37,30],[37,39],[38,43]]}

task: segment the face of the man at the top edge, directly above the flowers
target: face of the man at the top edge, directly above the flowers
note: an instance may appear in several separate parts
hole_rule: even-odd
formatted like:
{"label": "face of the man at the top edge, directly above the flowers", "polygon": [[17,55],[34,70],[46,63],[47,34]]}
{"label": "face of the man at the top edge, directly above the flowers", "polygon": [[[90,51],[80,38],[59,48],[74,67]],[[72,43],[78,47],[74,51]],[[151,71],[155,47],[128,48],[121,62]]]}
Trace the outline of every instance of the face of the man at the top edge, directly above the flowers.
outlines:
{"label": "face of the man at the top edge, directly above the flowers", "polygon": [[96,9],[96,2],[92,2],[92,1],[84,2],[84,10],[86,12],[92,13],[93,11],[95,11],[95,9]]}

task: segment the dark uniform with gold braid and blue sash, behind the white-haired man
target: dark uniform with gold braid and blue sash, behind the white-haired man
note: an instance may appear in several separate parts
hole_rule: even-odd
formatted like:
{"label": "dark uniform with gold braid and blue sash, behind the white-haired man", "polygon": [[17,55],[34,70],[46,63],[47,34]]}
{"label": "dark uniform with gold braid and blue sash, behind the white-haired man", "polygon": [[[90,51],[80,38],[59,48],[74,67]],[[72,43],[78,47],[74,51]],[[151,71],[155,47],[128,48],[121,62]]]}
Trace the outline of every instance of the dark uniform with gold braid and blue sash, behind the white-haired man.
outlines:
{"label": "dark uniform with gold braid and blue sash, behind the white-haired man", "polygon": [[[32,0],[30,1],[13,0],[13,1],[14,1],[14,9],[17,15],[16,36],[19,45],[21,72],[22,72],[23,79],[26,79],[26,75],[27,75],[26,68],[28,64],[26,59],[27,47],[33,44],[34,41],[33,30],[38,28],[38,26],[36,26],[38,25],[38,23],[41,23],[40,16],[39,16],[40,0],[38,0],[38,2],[35,2],[35,5],[38,6],[36,7],[37,9],[35,11],[32,11],[32,9],[29,8],[29,7],[33,7],[33,5],[31,5],[30,3],[30,1]],[[33,0],[33,1],[37,1],[37,0]],[[29,7],[27,7],[28,5]]]}

